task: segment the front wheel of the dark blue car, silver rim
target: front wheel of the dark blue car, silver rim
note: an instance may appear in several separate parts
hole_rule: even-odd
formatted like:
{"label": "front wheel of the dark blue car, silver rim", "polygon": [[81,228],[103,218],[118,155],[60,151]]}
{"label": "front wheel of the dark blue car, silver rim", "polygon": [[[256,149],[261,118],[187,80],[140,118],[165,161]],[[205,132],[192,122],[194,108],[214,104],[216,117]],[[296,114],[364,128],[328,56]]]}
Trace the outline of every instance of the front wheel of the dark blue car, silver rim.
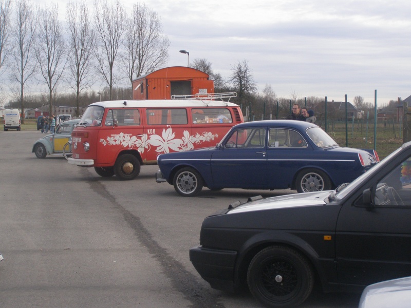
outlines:
{"label": "front wheel of the dark blue car, silver rim", "polygon": [[194,197],[201,191],[203,183],[196,170],[186,167],[177,171],[173,178],[173,185],[180,196]]}

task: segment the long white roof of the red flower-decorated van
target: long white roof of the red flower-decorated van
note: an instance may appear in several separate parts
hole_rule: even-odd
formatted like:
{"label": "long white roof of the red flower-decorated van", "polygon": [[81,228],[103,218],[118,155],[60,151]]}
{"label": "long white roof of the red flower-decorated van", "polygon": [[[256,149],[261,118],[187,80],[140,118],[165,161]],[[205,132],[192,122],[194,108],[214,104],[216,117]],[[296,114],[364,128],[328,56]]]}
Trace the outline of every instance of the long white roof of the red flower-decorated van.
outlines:
{"label": "long white roof of the red flower-decorated van", "polygon": [[124,107],[224,107],[238,106],[234,103],[210,100],[125,100],[106,101],[92,103],[89,106],[101,106],[104,108],[124,108]]}

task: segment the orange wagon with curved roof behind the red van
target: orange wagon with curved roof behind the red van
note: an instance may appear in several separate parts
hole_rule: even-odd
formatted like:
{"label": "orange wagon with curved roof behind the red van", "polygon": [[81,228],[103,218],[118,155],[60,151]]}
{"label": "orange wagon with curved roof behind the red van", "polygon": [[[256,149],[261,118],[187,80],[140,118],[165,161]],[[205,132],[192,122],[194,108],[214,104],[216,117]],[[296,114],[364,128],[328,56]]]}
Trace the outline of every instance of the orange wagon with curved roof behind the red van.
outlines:
{"label": "orange wagon with curved roof behind the red van", "polygon": [[214,92],[210,75],[198,69],[172,66],[140,76],[133,81],[134,100],[170,100],[172,95]]}

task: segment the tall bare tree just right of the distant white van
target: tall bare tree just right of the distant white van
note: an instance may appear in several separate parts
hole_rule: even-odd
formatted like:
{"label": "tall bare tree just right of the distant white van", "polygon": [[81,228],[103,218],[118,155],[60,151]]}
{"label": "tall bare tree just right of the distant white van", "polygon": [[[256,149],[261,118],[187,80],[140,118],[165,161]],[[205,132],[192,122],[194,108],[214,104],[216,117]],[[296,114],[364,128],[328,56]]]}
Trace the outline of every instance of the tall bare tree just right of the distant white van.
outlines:
{"label": "tall bare tree just right of the distant white van", "polygon": [[[21,104],[22,114],[24,114],[25,85],[32,78],[36,68],[33,47],[37,16],[28,0],[17,1],[14,23],[11,27],[11,36],[15,47],[11,52],[12,61],[10,61],[9,67],[11,81],[20,87],[15,96]],[[24,118],[22,123],[24,123]]]}

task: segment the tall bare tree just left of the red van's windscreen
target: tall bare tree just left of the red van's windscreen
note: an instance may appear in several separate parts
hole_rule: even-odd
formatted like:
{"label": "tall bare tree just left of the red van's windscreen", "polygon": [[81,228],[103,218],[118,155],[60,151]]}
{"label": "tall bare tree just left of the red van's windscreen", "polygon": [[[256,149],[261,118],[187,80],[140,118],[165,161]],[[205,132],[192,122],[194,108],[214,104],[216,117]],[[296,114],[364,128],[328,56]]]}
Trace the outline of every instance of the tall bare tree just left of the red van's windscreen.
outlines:
{"label": "tall bare tree just left of the red van's windscreen", "polygon": [[86,2],[80,4],[70,2],[66,10],[68,42],[70,55],[68,69],[70,79],[68,84],[76,91],[76,115],[80,115],[80,93],[93,83],[91,75],[91,60],[95,42],[90,14]]}

